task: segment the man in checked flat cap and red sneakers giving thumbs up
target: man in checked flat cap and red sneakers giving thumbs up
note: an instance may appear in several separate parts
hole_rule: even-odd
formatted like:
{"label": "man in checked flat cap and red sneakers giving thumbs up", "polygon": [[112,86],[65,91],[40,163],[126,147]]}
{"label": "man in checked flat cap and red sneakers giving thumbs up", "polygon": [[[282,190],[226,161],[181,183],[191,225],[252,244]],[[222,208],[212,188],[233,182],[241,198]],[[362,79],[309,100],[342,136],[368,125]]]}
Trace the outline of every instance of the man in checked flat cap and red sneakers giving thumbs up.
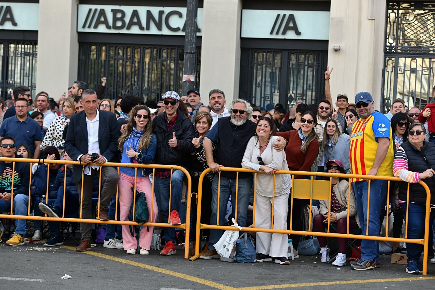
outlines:
{"label": "man in checked flat cap and red sneakers giving thumbs up", "polygon": [[[195,138],[194,126],[189,118],[178,109],[181,98],[177,92],[167,91],[163,94],[162,100],[164,112],[153,121],[153,132],[157,137],[154,163],[186,168],[190,164],[191,153],[195,149],[192,144],[192,139]],[[169,217],[171,225],[181,224],[178,212],[181,206],[183,180],[186,177],[184,172],[176,169],[171,175],[171,170],[156,169],[155,175],[154,192],[163,222],[167,223]],[[175,229],[166,228],[164,236],[166,245],[160,254],[163,256],[176,254]]]}

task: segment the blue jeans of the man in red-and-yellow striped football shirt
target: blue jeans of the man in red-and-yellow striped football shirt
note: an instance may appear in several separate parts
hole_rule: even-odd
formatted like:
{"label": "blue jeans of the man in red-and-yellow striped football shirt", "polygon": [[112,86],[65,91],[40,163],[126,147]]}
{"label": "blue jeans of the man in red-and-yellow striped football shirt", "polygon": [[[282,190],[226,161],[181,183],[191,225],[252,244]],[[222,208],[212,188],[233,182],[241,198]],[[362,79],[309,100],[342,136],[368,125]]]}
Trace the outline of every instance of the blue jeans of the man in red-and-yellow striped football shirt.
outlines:
{"label": "blue jeans of the man in red-and-yellow striped football shirt", "polygon": [[[388,182],[386,180],[372,180],[370,182],[370,214],[367,225],[367,180],[353,183],[355,185],[356,210],[361,224],[362,235],[367,231],[369,236],[379,236],[379,212],[381,203],[387,193]],[[365,261],[379,262],[379,241],[362,239],[361,240],[361,259]]]}

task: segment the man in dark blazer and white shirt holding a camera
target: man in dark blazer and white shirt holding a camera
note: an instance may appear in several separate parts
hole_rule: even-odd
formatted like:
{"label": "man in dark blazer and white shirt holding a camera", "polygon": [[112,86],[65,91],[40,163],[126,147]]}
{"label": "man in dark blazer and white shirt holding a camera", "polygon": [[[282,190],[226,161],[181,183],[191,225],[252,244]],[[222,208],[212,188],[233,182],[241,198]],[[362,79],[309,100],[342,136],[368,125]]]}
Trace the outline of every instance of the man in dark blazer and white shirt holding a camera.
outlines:
{"label": "man in dark blazer and white shirt holding a camera", "polygon": [[[117,129],[116,115],[108,111],[97,109],[97,94],[92,89],[84,90],[81,96],[84,111],[71,117],[67,138],[65,139],[65,151],[73,160],[81,161],[81,165],[73,165],[73,181],[77,182],[79,200],[83,193],[82,218],[91,219],[92,212],[92,181],[94,176],[100,175],[104,180],[104,186],[100,195],[100,220],[109,220],[107,208],[112,196],[116,192],[118,173],[109,166],[89,165],[89,163],[104,164],[105,162],[117,162]],[[97,153],[95,160],[91,159],[93,153]],[[83,175],[82,175],[83,174]],[[81,192],[83,176],[83,192]],[[80,223],[82,241],[77,246],[77,252],[90,250],[92,224]]]}

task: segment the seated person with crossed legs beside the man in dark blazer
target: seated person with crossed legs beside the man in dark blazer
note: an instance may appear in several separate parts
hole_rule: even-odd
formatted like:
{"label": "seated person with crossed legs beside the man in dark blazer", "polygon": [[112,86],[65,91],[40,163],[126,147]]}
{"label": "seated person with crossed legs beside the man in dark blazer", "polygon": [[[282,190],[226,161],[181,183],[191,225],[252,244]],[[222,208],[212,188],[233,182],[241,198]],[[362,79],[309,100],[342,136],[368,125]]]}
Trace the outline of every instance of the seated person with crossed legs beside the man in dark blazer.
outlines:
{"label": "seated person with crossed legs beside the man in dark blazer", "polygon": [[[63,160],[72,161],[67,152],[62,152]],[[50,217],[62,216],[62,209],[64,208],[65,200],[65,216],[74,215],[79,210],[79,193],[77,192],[77,184],[73,182],[73,165],[62,165],[57,171],[56,178],[50,189],[49,196],[46,203],[45,200],[40,202],[38,207],[41,212],[46,213]],[[67,171],[67,178],[65,179],[65,171]],[[65,199],[64,199],[65,191]],[[47,222],[50,227],[50,239],[44,243],[44,246],[59,246],[64,244],[64,237],[61,235],[59,222]]]}

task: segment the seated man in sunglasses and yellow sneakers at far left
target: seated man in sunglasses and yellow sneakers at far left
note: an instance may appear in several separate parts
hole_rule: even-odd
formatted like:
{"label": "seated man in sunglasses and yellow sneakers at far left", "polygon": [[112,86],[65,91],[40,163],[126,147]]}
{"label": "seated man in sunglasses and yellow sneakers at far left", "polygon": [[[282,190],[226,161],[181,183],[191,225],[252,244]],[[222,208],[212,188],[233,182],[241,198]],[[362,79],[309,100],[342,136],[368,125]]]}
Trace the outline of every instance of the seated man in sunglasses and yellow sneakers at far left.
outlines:
{"label": "seated man in sunglasses and yellow sneakers at far left", "polygon": [[[15,150],[15,140],[12,137],[3,137],[0,139],[0,153],[3,157],[17,158]],[[26,162],[15,162],[15,171],[12,172],[13,164],[8,161],[0,161],[0,212],[7,212],[10,210],[10,201],[12,196],[11,189],[13,188],[13,208],[15,212],[26,212],[27,215],[27,202],[16,202],[15,197],[19,194],[24,196],[29,195],[29,178],[30,178],[30,165]],[[12,183],[12,176],[13,183]],[[24,236],[26,234],[26,220],[17,219],[17,228],[15,229],[15,236],[9,239],[6,244],[9,246],[20,246],[24,244]],[[1,238],[0,238],[1,241]]]}

